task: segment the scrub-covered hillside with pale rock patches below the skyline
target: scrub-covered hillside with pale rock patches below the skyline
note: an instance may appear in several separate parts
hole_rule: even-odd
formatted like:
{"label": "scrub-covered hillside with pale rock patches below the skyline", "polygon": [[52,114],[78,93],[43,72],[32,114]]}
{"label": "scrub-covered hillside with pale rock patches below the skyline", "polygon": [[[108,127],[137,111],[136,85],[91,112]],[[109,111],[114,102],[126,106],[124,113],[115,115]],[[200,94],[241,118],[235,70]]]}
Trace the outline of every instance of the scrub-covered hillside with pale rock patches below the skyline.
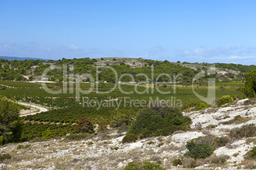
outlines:
{"label": "scrub-covered hillside with pale rock patches below the skyline", "polygon": [[[216,77],[216,81],[231,82],[231,81],[243,81],[245,79],[245,73],[251,72],[256,69],[255,65],[236,65],[225,63],[187,63],[187,62],[168,62],[165,60],[145,60],[143,58],[80,58],[80,59],[65,59],[62,60],[4,60],[0,59],[0,78],[7,81],[55,81],[62,82],[63,70],[56,69],[55,66],[62,67],[67,65],[66,77],[69,81],[76,81],[76,78],[80,82],[89,81],[86,77],[76,77],[76,74],[89,73],[96,78],[96,67],[101,67],[99,72],[99,81],[114,82],[115,75],[113,71],[108,70],[108,67],[117,71],[117,75],[131,74],[135,76],[138,73],[145,73],[148,77],[151,77],[151,67],[154,66],[154,81],[157,75],[162,73],[169,74],[181,74],[179,82],[181,84],[191,84],[192,78],[199,72],[206,73],[201,79],[201,83],[207,83],[211,77]],[[50,67],[51,70],[47,72],[45,78],[42,77],[43,71]],[[207,68],[211,67],[211,72],[208,72]],[[70,74],[74,74],[73,79],[69,79]],[[121,81],[132,81],[131,77],[124,76]],[[135,82],[146,82],[144,78],[137,78]],[[161,77],[159,81],[167,82],[167,77]]]}

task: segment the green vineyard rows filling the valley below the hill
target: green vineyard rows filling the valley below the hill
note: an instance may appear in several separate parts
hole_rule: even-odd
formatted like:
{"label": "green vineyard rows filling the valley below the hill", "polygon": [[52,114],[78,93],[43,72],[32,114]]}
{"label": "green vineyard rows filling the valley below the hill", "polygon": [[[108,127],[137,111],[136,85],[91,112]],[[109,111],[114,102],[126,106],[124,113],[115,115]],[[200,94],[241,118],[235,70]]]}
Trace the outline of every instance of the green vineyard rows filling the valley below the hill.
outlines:
{"label": "green vineyard rows filling the valley below the hill", "polygon": [[[60,93],[59,95],[47,93],[41,88],[41,84],[39,83],[0,81],[0,84],[3,84],[0,86],[0,95],[4,95],[7,98],[15,98],[17,101],[27,103],[31,101],[32,103],[45,107],[52,107],[53,103],[53,110],[41,112],[36,115],[28,115],[24,118],[29,122],[23,125],[22,141],[29,141],[36,137],[53,138],[54,136],[65,136],[67,133],[76,133],[76,126],[72,126],[71,124],[77,123],[82,117],[85,119],[90,118],[94,124],[99,124],[100,122],[111,124],[113,119],[118,117],[118,115],[126,115],[125,119],[134,119],[138,111],[143,108],[141,105],[132,104],[135,100],[144,100],[146,102],[144,107],[148,105],[150,100],[180,100],[182,103],[181,110],[196,107],[202,102],[196,97],[191,86],[177,86],[176,92],[173,93],[174,88],[172,84],[167,84],[166,88],[162,86],[159,87],[160,91],[171,92],[167,95],[160,93],[156,88],[146,88],[145,85],[134,86],[127,84],[119,84],[118,86],[120,86],[122,91],[131,92],[131,94],[124,94],[118,88],[115,88],[111,93],[100,94],[96,91],[96,84],[92,84],[94,85],[92,92],[87,95],[80,93],[79,102],[76,101],[75,91],[78,87],[73,83],[67,84],[67,93]],[[46,85],[53,91],[63,90],[63,87],[60,86],[61,84],[47,83]],[[90,85],[89,83],[81,83],[79,88],[83,91],[87,91]],[[242,85],[243,84],[240,82],[230,82],[229,84],[218,82],[216,86],[217,100],[224,95],[230,95],[233,98],[243,98],[241,91],[238,90]],[[70,91],[72,86],[73,93]],[[111,83],[99,84],[98,90],[109,91],[114,86],[115,84]],[[220,89],[220,87],[224,88]],[[145,93],[138,95],[136,91],[145,91]],[[194,91],[201,96],[206,97],[208,95],[208,89],[199,84],[196,84]],[[85,102],[83,103],[83,101]],[[109,103],[109,105],[97,105],[97,102],[100,101]],[[119,104],[118,107],[117,103]],[[24,107],[24,109],[27,108]],[[48,123],[32,124],[32,121]]]}

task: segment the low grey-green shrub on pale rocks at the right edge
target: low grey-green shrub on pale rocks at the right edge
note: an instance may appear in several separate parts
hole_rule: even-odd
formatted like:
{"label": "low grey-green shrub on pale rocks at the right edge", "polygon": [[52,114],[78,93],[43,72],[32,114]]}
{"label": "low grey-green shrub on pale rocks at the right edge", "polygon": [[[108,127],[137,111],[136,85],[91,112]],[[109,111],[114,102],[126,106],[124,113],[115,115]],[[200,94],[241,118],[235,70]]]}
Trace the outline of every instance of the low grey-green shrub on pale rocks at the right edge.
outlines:
{"label": "low grey-green shrub on pale rocks at the right edge", "polygon": [[244,125],[241,128],[235,128],[229,133],[229,138],[248,138],[256,136],[256,128],[254,124]]}

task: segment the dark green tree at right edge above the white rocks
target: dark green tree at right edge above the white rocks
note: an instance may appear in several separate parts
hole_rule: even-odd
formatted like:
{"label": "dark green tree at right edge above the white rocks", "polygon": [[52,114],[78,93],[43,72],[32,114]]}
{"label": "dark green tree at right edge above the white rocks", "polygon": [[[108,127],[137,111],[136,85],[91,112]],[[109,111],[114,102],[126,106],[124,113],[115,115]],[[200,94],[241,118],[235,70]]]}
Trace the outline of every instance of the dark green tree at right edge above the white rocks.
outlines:
{"label": "dark green tree at right edge above the white rocks", "polygon": [[243,93],[246,97],[252,98],[256,96],[256,70],[245,75],[245,88],[243,88]]}

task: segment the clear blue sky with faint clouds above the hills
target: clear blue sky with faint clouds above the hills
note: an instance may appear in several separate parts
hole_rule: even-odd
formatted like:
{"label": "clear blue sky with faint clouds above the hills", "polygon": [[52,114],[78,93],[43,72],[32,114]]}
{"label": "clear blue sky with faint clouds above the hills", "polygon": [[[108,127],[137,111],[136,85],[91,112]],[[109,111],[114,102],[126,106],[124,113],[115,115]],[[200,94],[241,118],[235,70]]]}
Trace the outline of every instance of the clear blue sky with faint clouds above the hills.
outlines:
{"label": "clear blue sky with faint clouds above the hills", "polygon": [[256,65],[256,1],[0,0],[0,56]]}

